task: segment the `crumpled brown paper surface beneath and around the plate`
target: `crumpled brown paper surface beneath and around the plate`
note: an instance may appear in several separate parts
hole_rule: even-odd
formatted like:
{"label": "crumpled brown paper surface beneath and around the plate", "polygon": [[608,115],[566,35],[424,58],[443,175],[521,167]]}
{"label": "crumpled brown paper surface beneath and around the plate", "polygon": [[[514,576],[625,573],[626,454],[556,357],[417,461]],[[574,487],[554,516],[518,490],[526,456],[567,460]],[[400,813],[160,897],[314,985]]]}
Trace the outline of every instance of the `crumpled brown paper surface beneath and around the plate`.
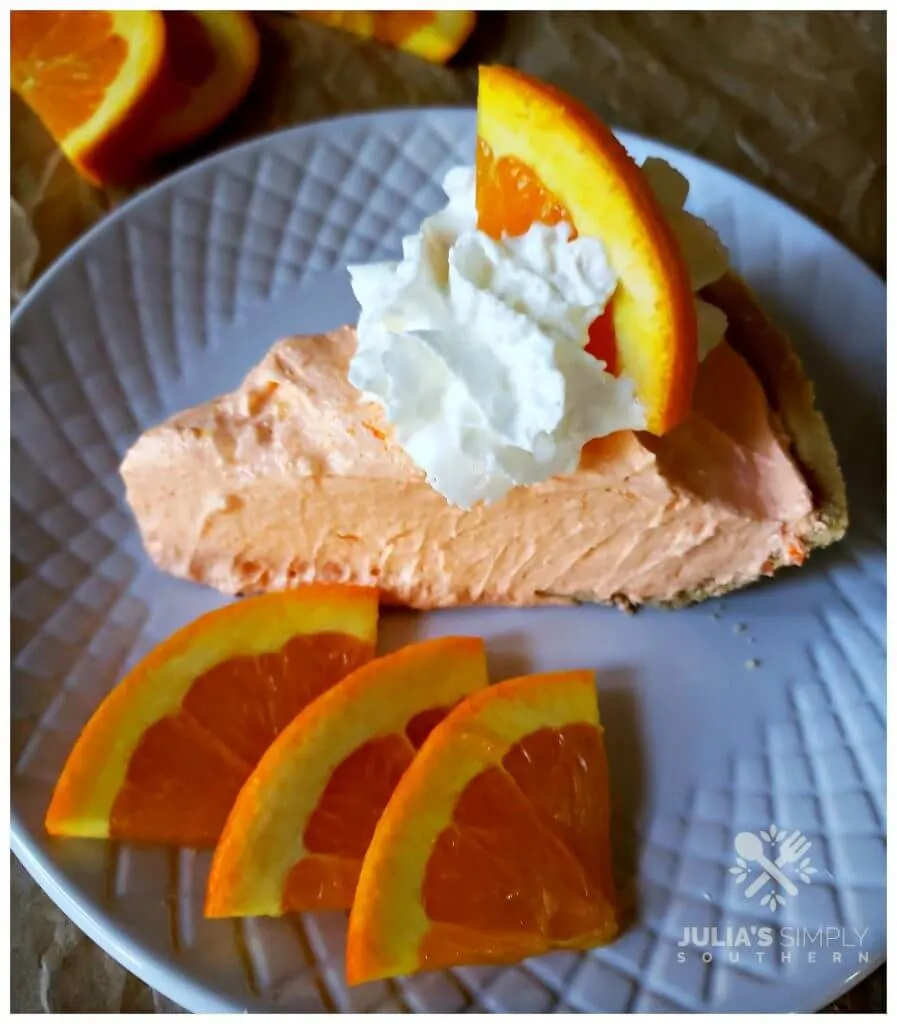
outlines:
{"label": "crumpled brown paper surface beneath and around the plate", "polygon": [[[477,61],[496,61],[754,181],[884,273],[884,13],[487,13],[451,68],[288,14],[257,20],[262,60],[246,102],[152,177],[324,117],[472,105]],[[12,195],[37,233],[40,272],[129,191],[82,181],[15,97],[11,139]],[[176,1009],[84,938],[14,861],[11,926],[13,1011]],[[884,1010],[884,976],[835,1009]]]}

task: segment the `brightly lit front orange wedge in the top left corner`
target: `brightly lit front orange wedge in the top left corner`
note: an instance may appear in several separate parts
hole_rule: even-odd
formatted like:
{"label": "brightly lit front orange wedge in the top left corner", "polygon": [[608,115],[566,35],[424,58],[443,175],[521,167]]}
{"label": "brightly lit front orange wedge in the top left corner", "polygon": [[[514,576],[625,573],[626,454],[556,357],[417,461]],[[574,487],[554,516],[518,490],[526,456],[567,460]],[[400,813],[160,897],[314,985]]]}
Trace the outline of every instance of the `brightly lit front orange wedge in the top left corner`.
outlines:
{"label": "brightly lit front orange wedge in the top left corner", "polygon": [[162,70],[162,14],[14,10],[10,37],[12,88],[72,163],[95,180],[130,164],[135,112]]}

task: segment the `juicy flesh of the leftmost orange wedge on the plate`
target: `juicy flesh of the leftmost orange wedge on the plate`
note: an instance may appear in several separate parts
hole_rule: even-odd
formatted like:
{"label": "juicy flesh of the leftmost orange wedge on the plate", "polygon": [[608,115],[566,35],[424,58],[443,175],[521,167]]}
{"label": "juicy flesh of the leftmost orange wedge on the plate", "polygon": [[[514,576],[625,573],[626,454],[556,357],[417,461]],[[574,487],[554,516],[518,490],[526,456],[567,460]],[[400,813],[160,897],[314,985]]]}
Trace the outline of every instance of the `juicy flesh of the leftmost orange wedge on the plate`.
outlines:
{"label": "juicy flesh of the leftmost orange wedge on the plate", "polygon": [[243,783],[280,732],[373,654],[373,645],[355,637],[317,633],[199,676],[178,711],[140,737],[113,804],[110,836],[214,845]]}

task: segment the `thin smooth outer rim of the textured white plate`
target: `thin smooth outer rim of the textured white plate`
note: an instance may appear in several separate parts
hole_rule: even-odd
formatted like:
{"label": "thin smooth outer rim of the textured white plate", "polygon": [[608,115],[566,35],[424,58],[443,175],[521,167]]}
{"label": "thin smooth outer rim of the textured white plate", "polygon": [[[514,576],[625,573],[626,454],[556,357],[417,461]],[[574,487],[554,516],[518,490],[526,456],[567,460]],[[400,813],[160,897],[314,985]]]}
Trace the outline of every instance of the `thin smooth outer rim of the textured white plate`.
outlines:
{"label": "thin smooth outer rim of the textured white plate", "polygon": [[[186,179],[193,174],[213,170],[217,164],[224,164],[238,155],[244,155],[253,151],[263,151],[266,146],[274,144],[287,136],[305,133],[312,134],[317,130],[334,125],[351,128],[364,126],[373,120],[380,123],[389,123],[405,120],[414,121],[427,117],[438,118],[440,116],[472,117],[473,114],[474,108],[469,105],[401,106],[385,111],[349,114],[335,118],[322,118],[291,128],[266,132],[188,164],[174,174],[163,178],[136,196],[131,197],[122,203],[121,206],[103,216],[41,271],[10,317],[10,347],[14,348],[15,345],[15,329],[19,318],[31,308],[33,303],[41,300],[44,291],[50,287],[53,278],[63,269],[70,260],[75,259],[84,250],[89,249],[96,237],[111,229],[121,219],[131,216],[144,203],[153,202],[159,195],[169,189],[176,189],[182,179]],[[623,128],[614,127],[613,131],[627,146],[635,143],[637,146],[650,148],[660,157],[678,158],[686,164],[690,162],[701,165],[723,175],[729,182],[735,182],[738,187],[748,189],[755,199],[766,204],[770,212],[776,217],[797,218],[805,229],[815,234],[820,244],[837,252],[839,258],[847,259],[853,264],[856,272],[862,273],[867,279],[873,281],[881,287],[883,292],[886,291],[884,278],[862,258],[826,228],[820,226],[802,211],[797,210],[778,197],[766,191],[741,175],[701,156],[688,153],[685,150],[661,140]],[[147,985],[191,1012],[246,1012],[249,1009],[247,1004],[225,998],[216,992],[214,988],[196,981],[176,963],[160,957],[150,948],[142,945],[138,939],[133,938],[131,933],[116,923],[95,900],[84,893],[80,887],[68,881],[54,861],[43,855],[41,850],[34,844],[29,829],[25,826],[12,806],[10,806],[10,849],[41,889],[86,935]],[[854,974],[849,985],[841,982],[823,989],[818,996],[818,1001],[808,1008],[807,1012],[823,1009],[840,995],[850,991],[878,970],[886,962],[886,953],[883,950],[881,955],[866,965],[863,971],[858,971]],[[796,1012],[801,1011],[798,1010]]]}

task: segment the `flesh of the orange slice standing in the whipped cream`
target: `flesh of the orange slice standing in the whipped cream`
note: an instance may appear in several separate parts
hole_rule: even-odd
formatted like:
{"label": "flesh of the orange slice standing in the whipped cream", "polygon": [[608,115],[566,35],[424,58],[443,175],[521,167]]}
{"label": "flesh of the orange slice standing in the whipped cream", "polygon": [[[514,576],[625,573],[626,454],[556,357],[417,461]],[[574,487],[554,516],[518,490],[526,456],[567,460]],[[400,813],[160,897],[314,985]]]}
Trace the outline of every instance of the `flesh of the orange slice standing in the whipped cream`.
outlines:
{"label": "flesh of the orange slice standing in the whipped cream", "polygon": [[[517,157],[496,159],[488,142],[476,140],[477,226],[493,239],[516,237],[535,223],[570,225],[570,238],[576,237],[572,215],[564,204],[540,179],[536,171]],[[618,373],[616,338],[610,303],[589,328],[586,351],[603,359],[607,373]]]}

